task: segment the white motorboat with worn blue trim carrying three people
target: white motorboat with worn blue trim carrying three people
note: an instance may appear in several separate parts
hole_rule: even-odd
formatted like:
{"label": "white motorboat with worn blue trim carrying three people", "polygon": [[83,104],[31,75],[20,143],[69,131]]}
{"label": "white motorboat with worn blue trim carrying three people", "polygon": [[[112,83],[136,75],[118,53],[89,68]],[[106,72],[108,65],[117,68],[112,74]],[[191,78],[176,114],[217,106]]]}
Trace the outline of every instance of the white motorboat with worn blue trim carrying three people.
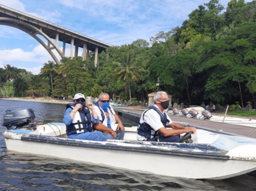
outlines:
{"label": "white motorboat with worn blue trim carrying three people", "polygon": [[[12,114],[16,124],[21,113]],[[5,112],[7,120],[10,116]],[[29,114],[27,120],[32,118]],[[221,180],[256,170],[256,139],[242,136],[198,129],[191,144],[146,142],[136,141],[137,127],[132,127],[126,128],[124,141],[101,142],[66,138],[64,123],[29,123],[18,128],[10,124],[5,123],[7,149],[24,154],[189,179]]]}

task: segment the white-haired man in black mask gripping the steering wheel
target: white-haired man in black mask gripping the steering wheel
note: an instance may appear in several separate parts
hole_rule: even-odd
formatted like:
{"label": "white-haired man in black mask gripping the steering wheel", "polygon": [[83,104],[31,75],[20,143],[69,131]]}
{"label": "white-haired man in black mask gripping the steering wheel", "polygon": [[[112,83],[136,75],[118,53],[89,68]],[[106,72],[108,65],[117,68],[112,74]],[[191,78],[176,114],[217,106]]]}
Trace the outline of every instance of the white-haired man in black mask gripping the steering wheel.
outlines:
{"label": "white-haired man in black mask gripping the steering wheel", "polygon": [[[180,134],[196,132],[195,128],[185,128],[171,121],[165,112],[169,106],[166,92],[155,93],[154,103],[154,106],[149,106],[142,113],[137,132],[138,141],[179,142]],[[166,129],[167,125],[172,129]]]}

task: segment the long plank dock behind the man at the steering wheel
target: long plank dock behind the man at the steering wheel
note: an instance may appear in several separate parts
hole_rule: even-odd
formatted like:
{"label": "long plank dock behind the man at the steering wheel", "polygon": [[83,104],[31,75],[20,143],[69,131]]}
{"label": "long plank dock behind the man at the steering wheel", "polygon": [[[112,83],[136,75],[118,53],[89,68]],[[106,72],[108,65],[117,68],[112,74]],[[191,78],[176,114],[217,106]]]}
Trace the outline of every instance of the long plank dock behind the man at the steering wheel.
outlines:
{"label": "long plank dock behind the man at the steering wheel", "polygon": [[[133,109],[130,107],[113,107],[115,113],[126,117],[133,122],[139,123],[141,114],[145,109]],[[210,130],[211,132],[224,133],[227,135],[246,136],[256,139],[256,128],[249,126],[235,125],[229,123],[213,122],[209,120],[199,120],[186,117],[170,116],[174,122],[188,123],[189,126],[194,126],[196,129]]]}

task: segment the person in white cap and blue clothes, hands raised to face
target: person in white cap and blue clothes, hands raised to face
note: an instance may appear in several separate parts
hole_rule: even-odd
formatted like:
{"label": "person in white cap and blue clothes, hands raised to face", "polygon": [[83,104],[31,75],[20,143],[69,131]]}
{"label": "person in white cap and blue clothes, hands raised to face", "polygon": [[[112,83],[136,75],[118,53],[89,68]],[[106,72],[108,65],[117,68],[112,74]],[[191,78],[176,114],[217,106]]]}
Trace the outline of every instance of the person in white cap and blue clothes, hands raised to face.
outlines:
{"label": "person in white cap and blue clothes, hands raised to face", "polygon": [[66,125],[68,138],[92,141],[108,139],[102,132],[92,132],[92,123],[99,123],[99,117],[93,109],[93,104],[89,102],[86,104],[83,94],[76,94],[73,104],[67,104],[63,122]]}

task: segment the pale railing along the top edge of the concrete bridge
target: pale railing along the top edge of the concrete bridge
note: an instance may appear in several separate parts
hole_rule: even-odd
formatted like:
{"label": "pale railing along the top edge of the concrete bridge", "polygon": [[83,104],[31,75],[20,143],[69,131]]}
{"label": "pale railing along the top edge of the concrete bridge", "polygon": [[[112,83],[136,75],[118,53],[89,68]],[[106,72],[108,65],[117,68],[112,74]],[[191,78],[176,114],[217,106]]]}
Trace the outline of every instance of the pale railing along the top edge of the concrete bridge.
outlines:
{"label": "pale railing along the top edge of the concrete bridge", "polygon": [[25,13],[25,12],[18,11],[18,10],[16,10],[16,9],[7,7],[7,6],[5,6],[5,5],[0,4],[0,7],[5,8],[5,9],[8,9],[8,10],[13,11],[13,12],[17,12],[18,14],[25,15],[25,16],[30,17],[30,18],[34,18],[34,19],[36,19],[36,20],[42,21],[43,23],[50,24],[51,26],[55,26],[55,27],[61,28],[61,29],[66,30],[66,31],[70,31],[71,33],[78,34],[78,35],[80,35],[80,36],[86,37],[86,38],[88,38],[88,39],[90,39],[90,40],[94,40],[94,41],[99,42],[99,43],[102,43],[102,44],[105,44],[105,45],[107,45],[107,46],[113,46],[113,45],[111,45],[111,44],[102,42],[101,40],[94,39],[94,38],[92,38],[92,37],[86,36],[85,34],[78,33],[78,32],[76,32],[76,31],[70,30],[70,29],[68,29],[68,28],[59,26],[58,24],[51,23],[51,22],[49,22],[49,21],[43,20],[42,18],[35,17],[35,16],[33,16],[33,15],[27,14],[27,13]]}

